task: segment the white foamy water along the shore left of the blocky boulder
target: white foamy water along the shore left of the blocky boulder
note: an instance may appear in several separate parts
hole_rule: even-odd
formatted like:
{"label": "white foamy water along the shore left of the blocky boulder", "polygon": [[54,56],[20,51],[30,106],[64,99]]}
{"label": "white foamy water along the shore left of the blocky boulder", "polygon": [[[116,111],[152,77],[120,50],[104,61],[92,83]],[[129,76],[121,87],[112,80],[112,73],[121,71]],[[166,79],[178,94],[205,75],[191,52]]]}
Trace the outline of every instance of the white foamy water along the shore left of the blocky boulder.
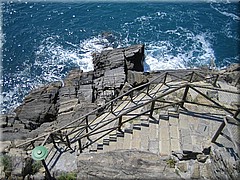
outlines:
{"label": "white foamy water along the shore left of the blocky boulder", "polygon": [[18,72],[8,74],[4,84],[8,91],[1,93],[1,113],[9,113],[19,106],[32,89],[48,82],[62,81],[72,68],[93,70],[92,54],[112,49],[111,43],[99,35],[85,39],[78,44],[59,43],[60,36],[45,38],[35,52],[34,62],[25,62]]}

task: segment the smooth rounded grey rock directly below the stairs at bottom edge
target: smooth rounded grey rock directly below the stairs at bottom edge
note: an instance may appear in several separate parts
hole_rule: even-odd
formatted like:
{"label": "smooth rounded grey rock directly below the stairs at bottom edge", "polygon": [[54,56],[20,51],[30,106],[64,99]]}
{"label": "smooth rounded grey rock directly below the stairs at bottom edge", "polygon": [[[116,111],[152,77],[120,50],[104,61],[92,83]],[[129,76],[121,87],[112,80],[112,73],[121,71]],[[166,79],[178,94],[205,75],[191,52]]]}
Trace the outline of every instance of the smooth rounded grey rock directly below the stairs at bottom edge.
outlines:
{"label": "smooth rounded grey rock directly below the stairs at bottom edge", "polygon": [[166,157],[136,150],[81,154],[78,172],[77,179],[180,179]]}

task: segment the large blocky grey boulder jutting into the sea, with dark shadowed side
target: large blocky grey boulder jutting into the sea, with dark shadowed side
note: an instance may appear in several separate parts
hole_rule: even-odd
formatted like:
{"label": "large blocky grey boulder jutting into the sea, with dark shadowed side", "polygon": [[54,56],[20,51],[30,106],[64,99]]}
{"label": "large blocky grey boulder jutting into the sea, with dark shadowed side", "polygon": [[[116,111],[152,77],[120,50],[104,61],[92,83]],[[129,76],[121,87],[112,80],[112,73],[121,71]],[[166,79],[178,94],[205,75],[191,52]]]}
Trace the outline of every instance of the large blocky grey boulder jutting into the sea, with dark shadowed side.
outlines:
{"label": "large blocky grey boulder jutting into the sea, with dark shadowed side", "polygon": [[[94,94],[95,99],[99,102],[98,104],[109,101],[119,95],[121,88],[128,80],[128,70],[131,72],[143,72],[143,60],[144,45],[133,45],[127,48],[105,50],[95,55],[93,58]],[[129,76],[132,74],[133,73],[129,73]],[[137,84],[143,82],[143,80],[139,80],[139,78],[137,79],[137,77],[134,78],[132,76],[130,80],[137,80]]]}

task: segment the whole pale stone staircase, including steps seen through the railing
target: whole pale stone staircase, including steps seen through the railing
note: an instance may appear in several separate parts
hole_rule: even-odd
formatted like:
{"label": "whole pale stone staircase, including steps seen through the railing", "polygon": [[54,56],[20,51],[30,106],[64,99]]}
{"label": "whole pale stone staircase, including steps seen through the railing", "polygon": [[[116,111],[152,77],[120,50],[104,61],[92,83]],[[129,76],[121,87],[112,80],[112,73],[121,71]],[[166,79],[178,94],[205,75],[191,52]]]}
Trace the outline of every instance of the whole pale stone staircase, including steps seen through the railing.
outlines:
{"label": "whole pale stone staircase, including steps seen through the railing", "polygon": [[[213,133],[222,122],[224,112],[215,108],[204,107],[200,105],[186,104],[184,108],[179,105],[168,105],[165,108],[155,109],[150,112],[142,113],[149,108],[140,106],[134,111],[127,112],[136,105],[141,105],[152,98],[165,93],[172,87],[180,86],[184,82],[173,82],[157,84],[149,92],[130,98],[124,97],[121,103],[118,103],[112,112],[104,113],[94,120],[93,129],[101,126],[108,119],[115,118],[122,114],[123,125],[121,129],[113,129],[104,136],[106,132],[100,132],[90,137],[95,143],[90,145],[84,152],[108,152],[113,150],[136,149],[150,151],[162,156],[168,156],[173,153],[202,153],[208,147]],[[184,90],[177,92],[183,94]],[[194,98],[193,92],[190,92],[191,98]],[[174,94],[170,99],[176,99],[178,95]],[[162,103],[161,105],[164,105]],[[102,131],[115,127],[117,121],[110,122],[107,126],[101,128]],[[107,131],[108,132],[108,131]]]}

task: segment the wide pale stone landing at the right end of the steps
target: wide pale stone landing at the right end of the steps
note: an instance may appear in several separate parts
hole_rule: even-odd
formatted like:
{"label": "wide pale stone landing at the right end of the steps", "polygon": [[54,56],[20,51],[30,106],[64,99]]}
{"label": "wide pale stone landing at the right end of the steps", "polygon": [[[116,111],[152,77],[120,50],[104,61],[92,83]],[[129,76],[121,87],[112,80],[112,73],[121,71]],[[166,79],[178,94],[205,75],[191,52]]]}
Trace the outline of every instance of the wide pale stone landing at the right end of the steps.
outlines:
{"label": "wide pale stone landing at the right end of the steps", "polygon": [[183,151],[201,153],[223,121],[216,108],[185,104],[179,112],[180,142]]}

